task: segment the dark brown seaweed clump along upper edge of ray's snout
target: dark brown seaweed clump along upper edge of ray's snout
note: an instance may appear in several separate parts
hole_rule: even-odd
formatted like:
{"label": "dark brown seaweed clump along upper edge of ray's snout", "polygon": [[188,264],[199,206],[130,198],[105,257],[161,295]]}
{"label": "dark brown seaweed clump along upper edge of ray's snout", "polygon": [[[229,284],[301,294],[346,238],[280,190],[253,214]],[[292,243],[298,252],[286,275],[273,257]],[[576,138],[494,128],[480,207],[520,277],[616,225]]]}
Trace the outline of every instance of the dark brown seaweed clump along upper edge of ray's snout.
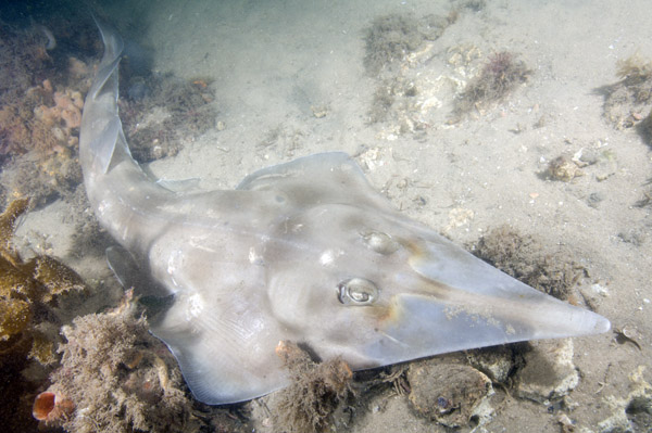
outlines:
{"label": "dark brown seaweed clump along upper edge of ray's snout", "polygon": [[537,239],[509,226],[491,230],[472,251],[503,272],[564,301],[573,301],[573,290],[587,272],[561,251],[548,252]]}

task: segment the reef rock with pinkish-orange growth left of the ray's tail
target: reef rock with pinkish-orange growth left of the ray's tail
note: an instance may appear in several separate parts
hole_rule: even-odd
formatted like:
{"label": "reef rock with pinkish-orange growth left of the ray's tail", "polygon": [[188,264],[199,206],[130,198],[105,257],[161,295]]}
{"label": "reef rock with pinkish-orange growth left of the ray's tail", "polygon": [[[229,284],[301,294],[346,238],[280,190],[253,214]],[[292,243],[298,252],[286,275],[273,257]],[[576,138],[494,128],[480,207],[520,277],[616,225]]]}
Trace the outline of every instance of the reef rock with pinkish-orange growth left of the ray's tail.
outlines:
{"label": "reef rock with pinkish-orange growth left of the ray's tail", "polygon": [[[0,23],[0,183],[9,196],[29,195],[30,207],[65,196],[82,180],[80,109],[93,68],[91,61],[85,62],[89,47],[83,47],[89,27],[78,26],[89,16],[79,14],[84,16],[66,10],[65,17],[48,18],[59,42],[53,51]],[[73,47],[76,56],[71,55]]]}

